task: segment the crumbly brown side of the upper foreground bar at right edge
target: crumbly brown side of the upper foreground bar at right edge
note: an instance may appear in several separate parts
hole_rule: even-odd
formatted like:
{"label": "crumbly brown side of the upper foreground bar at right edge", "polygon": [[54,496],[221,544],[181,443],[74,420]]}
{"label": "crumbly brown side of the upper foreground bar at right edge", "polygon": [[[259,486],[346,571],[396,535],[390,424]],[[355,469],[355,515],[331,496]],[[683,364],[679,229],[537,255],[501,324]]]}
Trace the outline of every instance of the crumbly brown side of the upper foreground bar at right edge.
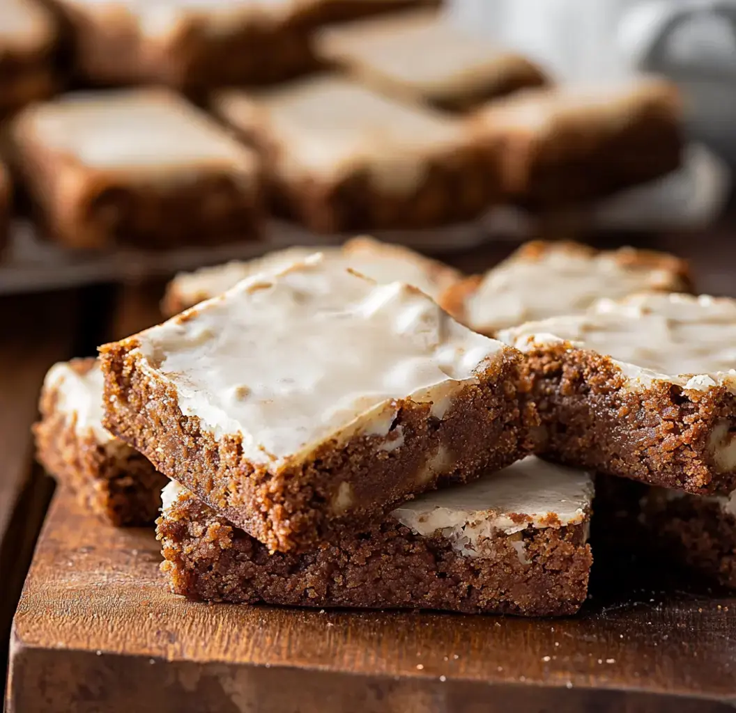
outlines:
{"label": "crumbly brown side of the upper foreground bar at right edge", "polygon": [[522,388],[537,406],[537,452],[567,465],[693,493],[731,492],[736,473],[718,473],[710,438],[736,413],[725,387],[686,390],[660,381],[627,388],[609,356],[570,343],[529,351]]}

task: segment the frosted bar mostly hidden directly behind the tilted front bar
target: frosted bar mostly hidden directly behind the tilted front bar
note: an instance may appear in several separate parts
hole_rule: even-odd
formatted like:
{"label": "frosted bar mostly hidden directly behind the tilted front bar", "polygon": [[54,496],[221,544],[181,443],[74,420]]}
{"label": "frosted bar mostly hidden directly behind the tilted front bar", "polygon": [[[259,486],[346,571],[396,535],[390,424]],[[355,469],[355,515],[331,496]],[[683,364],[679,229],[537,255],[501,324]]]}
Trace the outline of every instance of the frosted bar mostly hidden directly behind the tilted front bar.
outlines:
{"label": "frosted bar mostly hidden directly behind the tilted front bar", "polygon": [[[325,260],[353,268],[376,282],[406,282],[419,287],[435,301],[461,273],[409,248],[381,243],[371,237],[354,237],[339,248],[319,248]],[[285,248],[246,262],[234,260],[213,268],[179,273],[166,288],[163,312],[177,315],[199,302],[222,295],[238,282],[262,272],[286,268],[314,254],[315,248]]]}

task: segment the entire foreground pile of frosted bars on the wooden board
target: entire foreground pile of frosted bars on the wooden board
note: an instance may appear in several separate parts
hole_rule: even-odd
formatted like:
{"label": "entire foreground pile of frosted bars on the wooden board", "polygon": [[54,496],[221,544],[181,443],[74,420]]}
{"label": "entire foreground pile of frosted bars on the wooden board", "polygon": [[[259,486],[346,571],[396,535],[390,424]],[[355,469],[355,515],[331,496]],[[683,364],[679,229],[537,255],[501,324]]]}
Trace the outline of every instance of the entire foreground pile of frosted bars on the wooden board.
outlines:
{"label": "entire foreground pile of frosted bars on the wooden board", "polygon": [[169,587],[206,601],[569,615],[593,474],[612,537],[734,584],[736,303],[691,290],[574,243],[470,277],[369,238],[205,268],[49,372],[40,459],[115,524],[161,507]]}

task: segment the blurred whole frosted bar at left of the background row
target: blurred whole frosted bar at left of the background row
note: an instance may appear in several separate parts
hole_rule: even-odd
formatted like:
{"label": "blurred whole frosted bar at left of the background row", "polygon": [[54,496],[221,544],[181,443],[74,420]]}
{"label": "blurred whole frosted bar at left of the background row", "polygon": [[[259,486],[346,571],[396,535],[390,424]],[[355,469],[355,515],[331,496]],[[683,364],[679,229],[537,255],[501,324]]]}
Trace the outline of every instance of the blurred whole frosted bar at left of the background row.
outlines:
{"label": "blurred whole frosted bar at left of the background row", "polygon": [[49,232],[72,248],[210,245],[261,227],[255,154],[168,90],[28,107],[13,148]]}

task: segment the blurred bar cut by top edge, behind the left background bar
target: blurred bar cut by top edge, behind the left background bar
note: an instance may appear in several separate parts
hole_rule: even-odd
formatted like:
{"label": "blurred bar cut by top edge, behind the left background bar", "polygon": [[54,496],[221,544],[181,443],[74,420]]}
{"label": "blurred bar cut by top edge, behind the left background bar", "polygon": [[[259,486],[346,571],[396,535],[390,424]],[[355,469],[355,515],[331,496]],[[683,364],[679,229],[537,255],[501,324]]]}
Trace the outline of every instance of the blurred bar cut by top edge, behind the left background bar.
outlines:
{"label": "blurred bar cut by top edge, behind the left background bar", "polygon": [[[314,68],[304,0],[54,0],[82,78],[192,93],[278,82]],[[317,3],[319,4],[319,3]]]}

